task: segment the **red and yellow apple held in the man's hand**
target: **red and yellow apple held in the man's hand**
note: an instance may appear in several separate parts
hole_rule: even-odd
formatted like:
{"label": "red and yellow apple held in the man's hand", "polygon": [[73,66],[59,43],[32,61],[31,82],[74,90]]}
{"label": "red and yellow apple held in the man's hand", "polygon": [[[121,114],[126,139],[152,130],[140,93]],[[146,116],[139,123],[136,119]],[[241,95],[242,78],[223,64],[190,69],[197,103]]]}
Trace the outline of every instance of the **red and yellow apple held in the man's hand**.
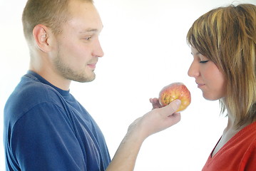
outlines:
{"label": "red and yellow apple held in the man's hand", "polygon": [[162,90],[160,90],[160,105],[168,105],[175,99],[179,99],[181,101],[180,108],[178,108],[176,112],[184,110],[188,107],[188,105],[190,105],[190,91],[183,83],[171,83],[170,85],[165,86]]}

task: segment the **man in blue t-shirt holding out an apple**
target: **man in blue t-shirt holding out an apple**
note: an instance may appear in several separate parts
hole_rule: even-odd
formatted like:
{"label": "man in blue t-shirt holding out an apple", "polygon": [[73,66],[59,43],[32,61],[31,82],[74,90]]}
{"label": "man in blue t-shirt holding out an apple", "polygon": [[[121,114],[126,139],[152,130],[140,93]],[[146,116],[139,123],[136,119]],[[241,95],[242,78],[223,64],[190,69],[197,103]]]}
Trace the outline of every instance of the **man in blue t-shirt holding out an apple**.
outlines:
{"label": "man in blue t-shirt holding out an apple", "polygon": [[29,0],[22,20],[31,61],[4,109],[6,170],[133,170],[143,140],[180,120],[180,100],[156,105],[111,161],[100,128],[69,93],[71,81],[93,81],[103,56],[93,1]]}

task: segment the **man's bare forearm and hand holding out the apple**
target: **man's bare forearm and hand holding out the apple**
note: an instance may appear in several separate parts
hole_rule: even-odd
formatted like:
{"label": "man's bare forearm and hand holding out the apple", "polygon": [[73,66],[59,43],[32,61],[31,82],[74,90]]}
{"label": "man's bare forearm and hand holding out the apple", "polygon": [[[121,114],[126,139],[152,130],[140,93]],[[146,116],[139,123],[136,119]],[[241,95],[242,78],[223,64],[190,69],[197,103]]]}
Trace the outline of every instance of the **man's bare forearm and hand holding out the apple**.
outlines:
{"label": "man's bare forearm and hand holding out the apple", "polygon": [[180,100],[175,100],[163,108],[155,108],[135,120],[128,128],[111,164],[106,171],[131,171],[135,167],[143,141],[148,136],[165,130],[180,121],[180,113],[175,113]]}

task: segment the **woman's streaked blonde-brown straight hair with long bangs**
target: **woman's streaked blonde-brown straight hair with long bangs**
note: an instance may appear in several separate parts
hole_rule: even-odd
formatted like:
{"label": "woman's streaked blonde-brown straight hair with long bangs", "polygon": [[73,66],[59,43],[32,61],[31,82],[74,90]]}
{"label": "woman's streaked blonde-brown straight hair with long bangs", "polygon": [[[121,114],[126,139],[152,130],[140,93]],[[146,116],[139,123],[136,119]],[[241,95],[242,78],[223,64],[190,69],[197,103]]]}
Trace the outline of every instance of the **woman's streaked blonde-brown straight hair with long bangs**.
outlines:
{"label": "woman's streaked blonde-brown straight hair with long bangs", "polygon": [[230,5],[200,16],[187,41],[224,73],[226,96],[220,99],[237,128],[256,118],[256,6]]}

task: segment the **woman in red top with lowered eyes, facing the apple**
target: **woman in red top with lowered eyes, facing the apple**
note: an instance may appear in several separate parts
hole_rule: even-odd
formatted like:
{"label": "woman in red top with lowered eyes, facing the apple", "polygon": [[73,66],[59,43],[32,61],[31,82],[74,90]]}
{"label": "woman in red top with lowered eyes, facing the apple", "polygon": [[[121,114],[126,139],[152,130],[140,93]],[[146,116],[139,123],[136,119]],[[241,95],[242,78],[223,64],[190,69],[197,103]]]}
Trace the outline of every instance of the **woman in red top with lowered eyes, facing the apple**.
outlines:
{"label": "woman in red top with lowered eyes, facing the apple", "polygon": [[187,40],[188,75],[205,99],[220,100],[228,117],[203,170],[256,170],[256,6],[213,9],[194,22]]}

